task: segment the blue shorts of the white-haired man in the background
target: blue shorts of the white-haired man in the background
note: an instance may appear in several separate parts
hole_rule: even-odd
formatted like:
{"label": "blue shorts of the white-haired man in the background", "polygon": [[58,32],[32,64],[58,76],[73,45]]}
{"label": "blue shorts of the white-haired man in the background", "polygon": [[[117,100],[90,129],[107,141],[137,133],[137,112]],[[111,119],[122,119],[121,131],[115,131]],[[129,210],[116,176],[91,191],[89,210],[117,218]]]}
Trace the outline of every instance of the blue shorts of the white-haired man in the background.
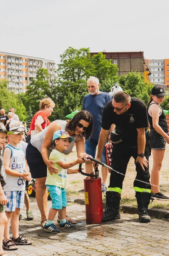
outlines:
{"label": "blue shorts of the white-haired man in the background", "polygon": [[[96,147],[98,145],[99,139],[89,139],[85,140],[85,151],[87,154],[90,154],[93,158],[95,158],[96,155]],[[103,153],[101,155],[101,162],[107,164],[107,158],[106,158],[106,147],[103,149]]]}

